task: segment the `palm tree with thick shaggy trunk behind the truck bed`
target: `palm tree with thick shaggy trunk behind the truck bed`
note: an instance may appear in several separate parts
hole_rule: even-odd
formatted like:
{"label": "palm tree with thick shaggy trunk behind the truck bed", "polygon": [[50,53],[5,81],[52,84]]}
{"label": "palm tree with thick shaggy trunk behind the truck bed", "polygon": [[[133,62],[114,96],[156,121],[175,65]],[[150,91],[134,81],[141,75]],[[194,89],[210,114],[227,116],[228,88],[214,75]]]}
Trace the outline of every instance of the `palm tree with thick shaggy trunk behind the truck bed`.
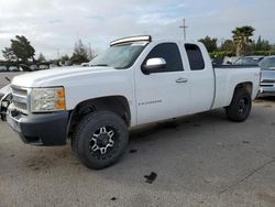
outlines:
{"label": "palm tree with thick shaggy trunk behind the truck bed", "polygon": [[237,47],[235,51],[237,56],[245,54],[248,45],[252,42],[250,37],[253,36],[254,31],[255,29],[249,25],[242,28],[235,28],[235,30],[232,31],[234,44]]}

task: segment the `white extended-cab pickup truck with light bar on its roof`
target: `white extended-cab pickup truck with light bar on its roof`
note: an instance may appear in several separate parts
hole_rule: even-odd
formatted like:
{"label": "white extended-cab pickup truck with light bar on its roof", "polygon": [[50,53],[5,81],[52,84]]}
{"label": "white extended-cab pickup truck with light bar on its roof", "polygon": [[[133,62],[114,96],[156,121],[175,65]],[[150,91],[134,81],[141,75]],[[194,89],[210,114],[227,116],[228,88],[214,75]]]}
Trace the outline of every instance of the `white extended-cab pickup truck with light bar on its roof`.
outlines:
{"label": "white extended-cab pickup truck with light bar on its roof", "polygon": [[[260,68],[213,68],[201,43],[120,39],[89,63],[20,75],[11,83],[8,123],[34,145],[72,149],[90,168],[121,157],[134,126],[226,108],[244,121],[260,87]],[[4,107],[6,106],[6,107]]]}

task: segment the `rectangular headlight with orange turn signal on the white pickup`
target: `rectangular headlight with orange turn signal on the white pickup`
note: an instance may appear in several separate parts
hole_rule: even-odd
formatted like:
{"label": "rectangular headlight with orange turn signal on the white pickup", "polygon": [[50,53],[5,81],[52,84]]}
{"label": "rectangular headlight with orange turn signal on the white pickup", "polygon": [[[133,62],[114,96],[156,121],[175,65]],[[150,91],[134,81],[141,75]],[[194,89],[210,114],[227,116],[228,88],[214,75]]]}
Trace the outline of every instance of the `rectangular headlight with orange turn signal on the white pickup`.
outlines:
{"label": "rectangular headlight with orange turn signal on the white pickup", "polygon": [[31,111],[52,112],[66,110],[65,90],[63,87],[33,88],[31,90]]}

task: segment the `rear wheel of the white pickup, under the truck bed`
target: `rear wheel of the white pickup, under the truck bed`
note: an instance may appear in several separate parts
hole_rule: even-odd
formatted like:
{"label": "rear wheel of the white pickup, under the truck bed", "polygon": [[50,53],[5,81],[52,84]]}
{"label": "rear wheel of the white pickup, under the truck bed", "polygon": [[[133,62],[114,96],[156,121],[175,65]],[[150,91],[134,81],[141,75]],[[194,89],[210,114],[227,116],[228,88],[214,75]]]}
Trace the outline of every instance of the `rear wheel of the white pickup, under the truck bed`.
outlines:
{"label": "rear wheel of the white pickup, under the truck bed", "polygon": [[232,121],[245,121],[250,116],[251,107],[252,101],[250,92],[244,88],[239,88],[235,90],[230,106],[226,108],[227,116]]}

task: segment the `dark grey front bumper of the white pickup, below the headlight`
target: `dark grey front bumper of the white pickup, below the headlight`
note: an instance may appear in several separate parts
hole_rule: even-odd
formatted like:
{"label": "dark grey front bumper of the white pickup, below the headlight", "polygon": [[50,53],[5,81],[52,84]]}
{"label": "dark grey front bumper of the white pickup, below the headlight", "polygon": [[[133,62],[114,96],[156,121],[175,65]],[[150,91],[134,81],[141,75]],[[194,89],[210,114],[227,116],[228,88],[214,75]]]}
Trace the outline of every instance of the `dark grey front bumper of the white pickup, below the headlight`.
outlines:
{"label": "dark grey front bumper of the white pickup, below the headlight", "polygon": [[7,121],[24,143],[33,145],[64,145],[67,140],[68,111],[22,115],[9,107]]}

